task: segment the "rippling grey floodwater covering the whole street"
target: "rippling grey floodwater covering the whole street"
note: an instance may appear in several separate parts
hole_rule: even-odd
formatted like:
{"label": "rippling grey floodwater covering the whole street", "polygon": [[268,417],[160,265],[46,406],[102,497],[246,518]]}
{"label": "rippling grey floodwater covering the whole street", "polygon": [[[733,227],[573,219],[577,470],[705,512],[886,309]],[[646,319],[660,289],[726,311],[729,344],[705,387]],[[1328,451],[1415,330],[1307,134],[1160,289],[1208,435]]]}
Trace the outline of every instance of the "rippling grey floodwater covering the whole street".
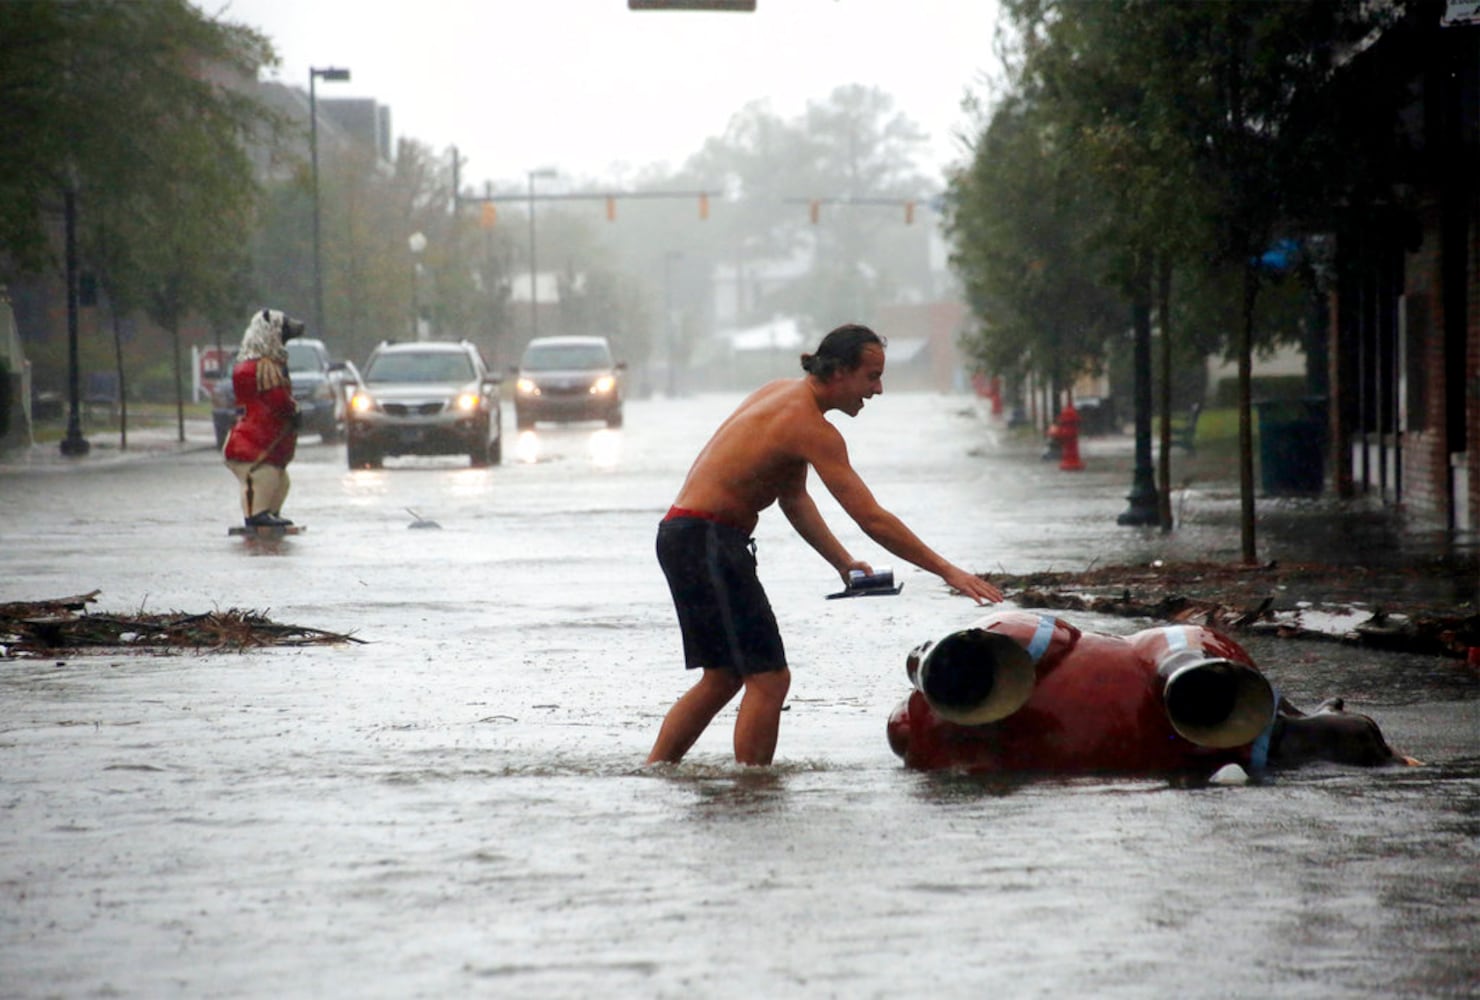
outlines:
{"label": "rippling grey floodwater covering the whole street", "polygon": [[[793,664],[777,765],[731,762],[730,709],[682,765],[642,768],[687,686],[654,528],[734,402],[518,439],[506,420],[494,469],[348,472],[305,444],[284,513],[308,531],[275,544],[226,537],[210,451],[0,467],[0,601],[101,589],[95,612],[243,608],[364,641],[0,658],[0,996],[1480,993],[1480,679],[1459,661],[1248,643],[1294,701],[1344,695],[1422,768],[915,774],[884,734],[904,655],[978,611],[818,497],[904,592],[826,601],[839,581],[768,512]],[[1208,493],[1172,538],[1116,527],[1119,442],[1061,473],[962,396],[839,423],[881,501],[968,568],[1237,552]]]}

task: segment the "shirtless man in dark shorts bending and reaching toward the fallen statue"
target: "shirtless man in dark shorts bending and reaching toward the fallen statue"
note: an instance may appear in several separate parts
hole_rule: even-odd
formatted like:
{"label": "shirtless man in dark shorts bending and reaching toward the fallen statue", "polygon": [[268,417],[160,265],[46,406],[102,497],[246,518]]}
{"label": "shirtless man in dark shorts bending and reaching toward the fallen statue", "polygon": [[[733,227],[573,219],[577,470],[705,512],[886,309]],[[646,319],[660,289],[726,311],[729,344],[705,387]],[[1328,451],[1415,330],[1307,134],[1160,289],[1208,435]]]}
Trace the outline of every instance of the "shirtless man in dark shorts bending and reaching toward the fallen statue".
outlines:
{"label": "shirtless man in dark shorts bending and reaching toward the fallen statue", "polygon": [[838,327],[802,355],[801,379],[750,393],[699,453],[673,507],[659,525],[657,558],[684,635],[684,661],[699,682],[669,709],[648,763],[676,762],[731,698],[744,689],[736,719],[736,760],[768,765],[776,754],[781,704],[792,683],[776,615],[755,572],[750,533],[777,503],[796,533],[847,583],[854,559],[807,494],[807,467],[863,531],[895,556],[934,572],[977,604],[1002,592],[947,562],[903,521],[879,506],[848,463],[842,435],[823,416],[858,416],[884,392],[884,339],[867,327]]}

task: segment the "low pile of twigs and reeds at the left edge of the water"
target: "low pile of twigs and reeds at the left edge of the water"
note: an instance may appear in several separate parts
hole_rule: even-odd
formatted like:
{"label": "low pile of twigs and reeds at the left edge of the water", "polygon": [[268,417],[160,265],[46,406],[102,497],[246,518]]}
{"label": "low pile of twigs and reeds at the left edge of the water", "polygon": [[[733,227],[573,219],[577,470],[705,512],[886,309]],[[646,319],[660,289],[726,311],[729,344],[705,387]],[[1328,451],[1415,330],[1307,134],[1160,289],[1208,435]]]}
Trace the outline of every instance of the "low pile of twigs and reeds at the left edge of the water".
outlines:
{"label": "low pile of twigs and reeds at the left edge of the water", "polygon": [[221,652],[256,646],[361,642],[351,635],[280,624],[258,611],[204,614],[90,614],[98,590],[49,601],[0,604],[0,658],[52,655],[58,649],[194,649]]}

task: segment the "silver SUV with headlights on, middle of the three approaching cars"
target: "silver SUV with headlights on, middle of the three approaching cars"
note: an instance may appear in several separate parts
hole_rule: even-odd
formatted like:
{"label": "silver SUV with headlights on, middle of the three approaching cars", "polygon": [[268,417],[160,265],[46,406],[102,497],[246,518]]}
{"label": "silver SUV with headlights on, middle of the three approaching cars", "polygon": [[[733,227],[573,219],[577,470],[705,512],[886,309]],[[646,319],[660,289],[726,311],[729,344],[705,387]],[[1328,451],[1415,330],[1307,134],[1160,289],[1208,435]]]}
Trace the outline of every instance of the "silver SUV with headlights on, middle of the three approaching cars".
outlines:
{"label": "silver SUV with headlights on, middle of the three approaching cars", "polygon": [[465,454],[474,466],[503,460],[499,376],[462,340],[382,343],[349,399],[351,469],[386,456]]}

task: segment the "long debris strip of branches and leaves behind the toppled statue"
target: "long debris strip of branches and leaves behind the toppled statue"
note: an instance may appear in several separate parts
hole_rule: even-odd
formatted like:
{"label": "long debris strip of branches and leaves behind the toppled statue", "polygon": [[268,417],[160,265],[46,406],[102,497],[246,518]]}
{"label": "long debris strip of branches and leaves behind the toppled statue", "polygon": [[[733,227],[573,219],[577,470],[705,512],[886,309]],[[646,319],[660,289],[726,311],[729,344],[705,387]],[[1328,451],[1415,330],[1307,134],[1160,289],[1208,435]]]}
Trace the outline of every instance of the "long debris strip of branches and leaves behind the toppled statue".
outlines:
{"label": "long debris strip of branches and leaves behind the toppled statue", "polygon": [[1288,639],[1351,642],[1381,649],[1474,657],[1480,611],[1473,602],[1436,611],[1405,598],[1403,580],[1354,567],[1245,567],[1157,562],[1083,572],[990,574],[1024,608],[1091,611],[1187,621]]}

